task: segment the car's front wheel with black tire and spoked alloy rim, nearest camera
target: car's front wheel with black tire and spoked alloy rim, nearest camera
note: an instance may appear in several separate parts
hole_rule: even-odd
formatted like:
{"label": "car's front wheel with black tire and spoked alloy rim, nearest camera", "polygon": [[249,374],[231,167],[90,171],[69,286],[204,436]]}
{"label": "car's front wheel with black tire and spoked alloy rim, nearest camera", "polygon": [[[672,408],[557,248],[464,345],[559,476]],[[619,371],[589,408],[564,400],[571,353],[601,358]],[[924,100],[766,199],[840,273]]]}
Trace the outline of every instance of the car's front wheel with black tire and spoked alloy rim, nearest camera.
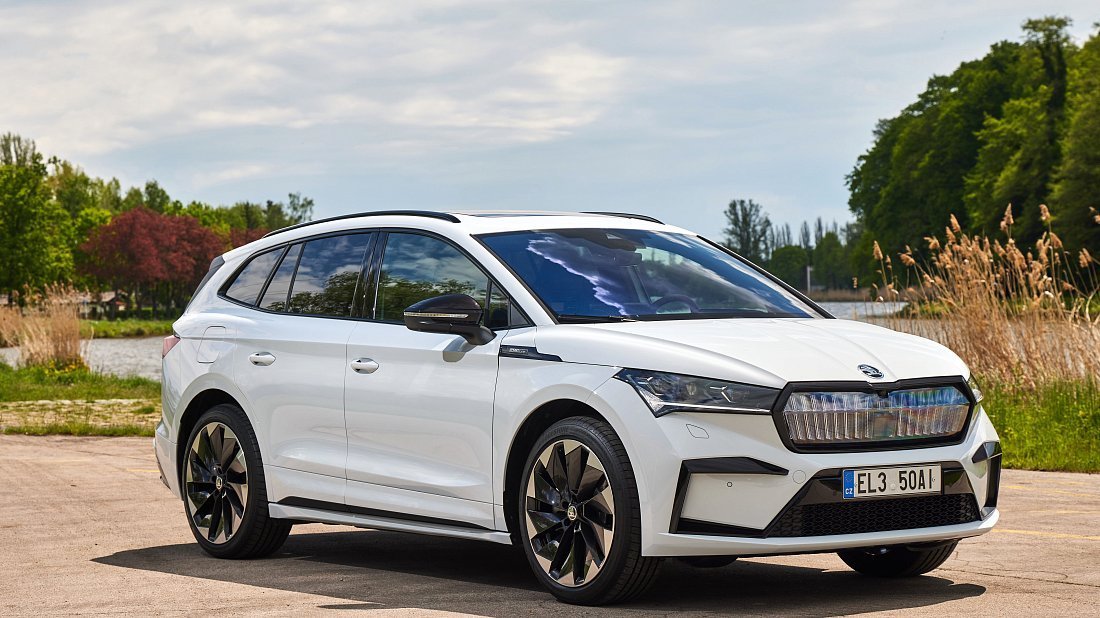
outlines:
{"label": "car's front wheel with black tire and spoked alloy rim, nearest camera", "polygon": [[[661,560],[641,555],[638,486],[610,426],[585,417],[551,426],[528,455],[517,489],[520,545],[559,600],[620,603],[652,584]],[[576,555],[584,556],[580,570]]]}

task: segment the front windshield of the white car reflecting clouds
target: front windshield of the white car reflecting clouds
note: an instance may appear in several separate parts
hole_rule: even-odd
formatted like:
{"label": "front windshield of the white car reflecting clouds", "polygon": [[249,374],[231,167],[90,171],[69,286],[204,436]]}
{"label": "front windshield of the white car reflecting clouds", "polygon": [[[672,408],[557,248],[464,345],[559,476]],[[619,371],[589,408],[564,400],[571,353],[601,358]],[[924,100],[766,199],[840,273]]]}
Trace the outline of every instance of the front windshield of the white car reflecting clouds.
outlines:
{"label": "front windshield of the white car reflecting clouds", "polygon": [[576,229],[480,240],[562,322],[816,316],[748,264],[693,235]]}

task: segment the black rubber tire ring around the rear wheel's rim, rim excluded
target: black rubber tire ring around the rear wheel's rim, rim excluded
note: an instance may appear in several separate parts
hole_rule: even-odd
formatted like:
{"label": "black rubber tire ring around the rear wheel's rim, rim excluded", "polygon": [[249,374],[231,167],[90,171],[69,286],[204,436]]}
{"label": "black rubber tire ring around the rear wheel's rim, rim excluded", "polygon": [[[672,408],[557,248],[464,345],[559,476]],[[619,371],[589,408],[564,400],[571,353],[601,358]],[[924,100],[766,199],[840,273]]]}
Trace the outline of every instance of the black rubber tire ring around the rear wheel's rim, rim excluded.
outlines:
{"label": "black rubber tire ring around the rear wheel's rim, rim excluded", "polygon": [[[237,435],[238,443],[244,451],[244,462],[249,466],[248,470],[248,483],[249,483],[249,496],[244,503],[244,518],[241,520],[241,525],[238,527],[233,537],[224,543],[211,543],[204,537],[198,527],[195,526],[195,521],[191,519],[190,509],[188,506],[187,498],[187,475],[184,466],[187,465],[187,457],[190,456],[191,444],[195,443],[195,438],[198,435],[199,431],[211,422],[220,422],[228,427]],[[183,487],[184,494],[184,516],[187,518],[187,526],[191,530],[191,534],[195,536],[195,540],[198,541],[199,545],[210,554],[216,556],[230,558],[237,555],[240,550],[240,545],[248,542],[248,538],[252,528],[256,526],[256,519],[260,517],[260,509],[267,508],[266,504],[266,488],[263,487],[264,476],[263,476],[263,461],[260,457],[260,451],[256,448],[255,433],[252,431],[252,424],[249,422],[248,417],[244,416],[244,411],[237,406],[230,404],[221,404],[210,408],[195,423],[191,429],[191,434],[187,438],[187,443],[184,448],[184,459],[179,464],[179,486]],[[261,504],[263,503],[263,504]]]}

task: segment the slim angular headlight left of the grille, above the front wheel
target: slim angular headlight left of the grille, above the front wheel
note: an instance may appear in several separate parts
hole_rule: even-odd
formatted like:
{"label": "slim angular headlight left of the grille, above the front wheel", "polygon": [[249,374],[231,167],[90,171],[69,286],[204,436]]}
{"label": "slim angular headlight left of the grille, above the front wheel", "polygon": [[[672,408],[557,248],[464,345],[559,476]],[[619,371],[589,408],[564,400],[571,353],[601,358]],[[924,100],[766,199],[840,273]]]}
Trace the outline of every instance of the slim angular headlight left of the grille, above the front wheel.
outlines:
{"label": "slim angular headlight left of the grille, above the front wheel", "polygon": [[641,395],[654,417],[674,411],[767,415],[779,389],[644,369],[623,369],[617,379]]}

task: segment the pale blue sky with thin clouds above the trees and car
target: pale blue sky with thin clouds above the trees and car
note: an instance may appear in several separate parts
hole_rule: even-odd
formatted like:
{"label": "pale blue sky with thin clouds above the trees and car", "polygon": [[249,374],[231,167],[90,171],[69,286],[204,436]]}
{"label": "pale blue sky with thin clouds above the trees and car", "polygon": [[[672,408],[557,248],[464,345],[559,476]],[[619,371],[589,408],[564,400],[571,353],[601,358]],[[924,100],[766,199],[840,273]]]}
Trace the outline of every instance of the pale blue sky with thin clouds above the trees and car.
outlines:
{"label": "pale blue sky with thin clouds above the trees and car", "polygon": [[845,175],[935,74],[1096,0],[0,3],[0,132],[232,203],[613,210],[721,236],[849,219]]}

